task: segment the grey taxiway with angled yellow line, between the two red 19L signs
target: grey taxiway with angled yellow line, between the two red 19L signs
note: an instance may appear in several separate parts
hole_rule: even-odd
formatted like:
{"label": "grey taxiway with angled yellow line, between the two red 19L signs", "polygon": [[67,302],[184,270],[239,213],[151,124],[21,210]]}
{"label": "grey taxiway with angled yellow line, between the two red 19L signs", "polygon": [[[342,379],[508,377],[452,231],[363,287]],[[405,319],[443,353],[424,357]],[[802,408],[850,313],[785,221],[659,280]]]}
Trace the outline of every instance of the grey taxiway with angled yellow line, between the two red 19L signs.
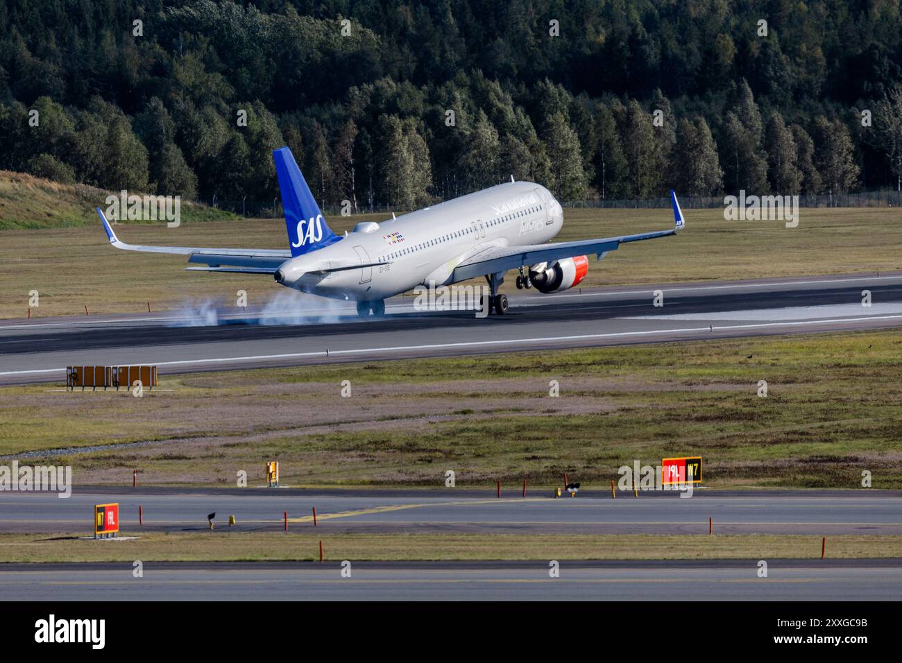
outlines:
{"label": "grey taxiway with angled yellow line, between the two red 19L signs", "polygon": [[[118,489],[85,492],[68,499],[55,493],[0,493],[2,532],[92,532],[94,504],[119,502],[122,535],[141,531],[203,531],[216,512],[218,529],[235,533],[316,527],[323,534],[484,533],[484,534],[707,534],[713,518],[719,534],[896,534],[902,535],[902,493],[894,491],[805,493],[619,493],[612,499],[580,494],[554,499],[548,493],[505,488],[492,493],[446,490],[425,492],[343,492],[244,489],[181,492]],[[238,493],[238,494],[236,494]],[[143,525],[138,524],[138,506]],[[312,510],[317,509],[317,525]],[[228,528],[235,515],[236,528]]]}

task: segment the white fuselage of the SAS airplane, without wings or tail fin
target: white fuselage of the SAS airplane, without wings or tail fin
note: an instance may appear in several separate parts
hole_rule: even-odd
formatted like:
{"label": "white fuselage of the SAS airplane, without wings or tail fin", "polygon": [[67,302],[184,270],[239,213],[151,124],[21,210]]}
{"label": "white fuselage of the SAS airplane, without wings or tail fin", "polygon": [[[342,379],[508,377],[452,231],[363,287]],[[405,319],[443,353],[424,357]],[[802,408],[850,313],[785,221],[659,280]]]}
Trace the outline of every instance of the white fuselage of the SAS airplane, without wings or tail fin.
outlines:
{"label": "white fuselage of the SAS airplane, without wings or tail fin", "polygon": [[[358,224],[340,241],[284,262],[281,283],[322,297],[385,299],[418,285],[448,285],[461,262],[495,247],[543,244],[563,223],[548,189],[509,182],[381,224]],[[373,262],[388,264],[321,272]]]}

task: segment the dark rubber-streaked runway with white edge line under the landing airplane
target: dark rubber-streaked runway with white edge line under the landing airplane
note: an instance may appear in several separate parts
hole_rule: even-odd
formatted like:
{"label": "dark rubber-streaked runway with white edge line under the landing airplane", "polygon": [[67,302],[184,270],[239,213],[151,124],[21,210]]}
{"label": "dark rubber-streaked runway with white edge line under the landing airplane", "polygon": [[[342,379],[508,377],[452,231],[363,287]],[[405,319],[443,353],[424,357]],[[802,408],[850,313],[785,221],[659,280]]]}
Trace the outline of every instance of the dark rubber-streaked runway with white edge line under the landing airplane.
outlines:
{"label": "dark rubber-streaked runway with white edge line under the landing airplane", "polygon": [[[654,306],[656,290],[661,307]],[[861,305],[863,290],[870,307]],[[235,308],[6,320],[0,384],[63,382],[67,365],[156,364],[165,375],[900,327],[902,272],[529,291],[510,302],[508,315],[484,319],[473,311],[415,311],[407,297],[389,300],[382,319],[359,320],[350,304],[286,318],[309,324],[262,325],[259,311]],[[202,325],[213,318],[216,325]]]}

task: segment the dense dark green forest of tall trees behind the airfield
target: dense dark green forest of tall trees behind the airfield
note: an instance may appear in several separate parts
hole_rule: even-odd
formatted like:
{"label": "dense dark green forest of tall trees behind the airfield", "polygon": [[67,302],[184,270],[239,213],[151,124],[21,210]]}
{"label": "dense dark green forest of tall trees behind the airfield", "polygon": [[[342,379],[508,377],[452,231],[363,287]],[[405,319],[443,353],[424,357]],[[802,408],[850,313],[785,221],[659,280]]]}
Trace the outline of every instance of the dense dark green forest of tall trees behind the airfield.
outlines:
{"label": "dense dark green forest of tall trees behind the airfield", "polygon": [[[226,206],[893,190],[899,0],[5,0],[0,170]],[[237,202],[236,202],[237,201]]]}

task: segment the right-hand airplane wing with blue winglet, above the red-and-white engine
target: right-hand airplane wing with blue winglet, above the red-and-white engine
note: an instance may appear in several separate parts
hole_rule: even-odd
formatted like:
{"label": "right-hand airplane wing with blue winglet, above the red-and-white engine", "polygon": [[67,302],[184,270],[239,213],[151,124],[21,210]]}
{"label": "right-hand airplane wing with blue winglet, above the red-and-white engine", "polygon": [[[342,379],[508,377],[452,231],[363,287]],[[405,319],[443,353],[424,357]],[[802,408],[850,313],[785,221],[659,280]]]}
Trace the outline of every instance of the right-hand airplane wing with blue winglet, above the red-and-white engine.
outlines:
{"label": "right-hand airplane wing with blue winglet, above the red-and-white engine", "polygon": [[599,260],[605,253],[616,251],[621,244],[640,242],[646,239],[676,235],[677,230],[686,227],[683,212],[676,201],[676,194],[670,191],[670,201],[674,210],[674,227],[638,235],[620,235],[602,239],[587,239],[579,242],[554,242],[551,244],[528,244],[525,246],[504,246],[486,249],[457,265],[453,281],[466,281],[485,274],[496,274],[519,269],[523,265],[538,262],[553,262],[575,255],[594,253]]}

